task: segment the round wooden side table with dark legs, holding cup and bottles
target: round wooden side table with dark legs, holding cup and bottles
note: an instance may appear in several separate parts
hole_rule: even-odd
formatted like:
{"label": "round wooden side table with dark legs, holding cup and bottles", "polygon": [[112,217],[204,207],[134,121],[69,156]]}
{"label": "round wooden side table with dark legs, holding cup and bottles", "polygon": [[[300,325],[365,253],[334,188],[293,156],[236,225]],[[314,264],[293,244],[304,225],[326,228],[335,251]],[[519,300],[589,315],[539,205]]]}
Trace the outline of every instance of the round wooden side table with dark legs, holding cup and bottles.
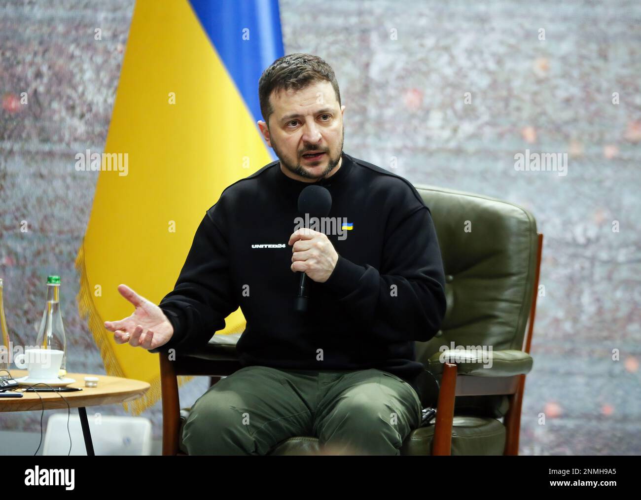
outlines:
{"label": "round wooden side table with dark legs, holding cup and bottles", "polygon": [[[26,370],[12,370],[11,376],[14,379],[27,376]],[[85,387],[85,377],[97,377],[97,387]],[[22,397],[0,397],[0,412],[32,412],[34,410],[59,410],[67,408],[67,403],[72,408],[78,408],[80,415],[80,424],[82,426],[83,436],[85,437],[85,447],[87,454],[94,454],[94,445],[91,441],[89,432],[89,423],[87,421],[87,406],[97,406],[99,404],[124,403],[132,399],[138,399],[149,390],[149,384],[140,380],[130,378],[110,377],[108,375],[96,375],[92,373],[67,373],[67,378],[75,380],[65,387],[81,387],[82,390],[72,392],[24,392],[28,387],[21,386],[11,390],[11,392],[21,392]],[[39,387],[46,387],[38,385]],[[67,403],[62,399],[67,400]],[[42,398],[42,399],[40,399]]]}

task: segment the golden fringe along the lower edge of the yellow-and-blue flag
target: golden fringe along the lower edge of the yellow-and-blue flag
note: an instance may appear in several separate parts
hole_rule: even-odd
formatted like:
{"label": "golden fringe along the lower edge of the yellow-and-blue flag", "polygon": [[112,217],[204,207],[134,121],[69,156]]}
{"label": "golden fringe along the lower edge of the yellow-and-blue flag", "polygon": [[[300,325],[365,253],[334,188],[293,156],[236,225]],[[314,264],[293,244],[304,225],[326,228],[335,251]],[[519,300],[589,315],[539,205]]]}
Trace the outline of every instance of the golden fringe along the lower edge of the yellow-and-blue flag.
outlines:
{"label": "golden fringe along the lower edge of the yellow-and-blue flag", "polygon": [[[80,288],[78,292],[78,312],[80,318],[87,320],[87,326],[91,331],[96,346],[100,350],[100,356],[103,358],[104,369],[108,376],[126,378],[122,367],[118,362],[115,354],[113,353],[113,344],[107,335],[107,329],[104,328],[104,321],[100,317],[96,304],[89,287],[89,280],[87,277],[87,267],[85,267],[85,241],[83,240],[78,249],[78,256],[76,256],[76,270],[80,276]],[[192,380],[194,376],[178,376],[178,387],[182,387],[188,381]],[[156,376],[149,383],[151,387],[141,397],[134,401],[127,401],[122,403],[122,407],[126,412],[132,415],[140,415],[140,413],[147,410],[156,404],[162,397],[162,390],[160,386],[160,376]]]}

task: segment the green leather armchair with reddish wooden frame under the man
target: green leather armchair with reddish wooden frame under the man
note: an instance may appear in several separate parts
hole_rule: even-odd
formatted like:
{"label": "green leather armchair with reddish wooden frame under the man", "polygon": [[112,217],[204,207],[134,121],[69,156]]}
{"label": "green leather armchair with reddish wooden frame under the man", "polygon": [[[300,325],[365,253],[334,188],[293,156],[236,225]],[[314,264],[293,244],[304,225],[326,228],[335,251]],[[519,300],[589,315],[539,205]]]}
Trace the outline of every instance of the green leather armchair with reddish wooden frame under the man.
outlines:
{"label": "green leather armchair with reddish wooden frame under the man", "polygon": [[[487,196],[415,186],[429,206],[445,269],[447,312],[440,331],[417,342],[421,402],[437,410],[401,447],[401,454],[518,454],[525,376],[537,301],[543,235],[528,210]],[[526,335],[527,329],[527,335]],[[236,335],[169,361],[160,355],[163,454],[187,454],[178,376],[215,383],[241,368]],[[427,408],[426,408],[427,409]],[[424,410],[425,411],[425,410]],[[312,436],[295,436],[270,454],[319,453]]]}

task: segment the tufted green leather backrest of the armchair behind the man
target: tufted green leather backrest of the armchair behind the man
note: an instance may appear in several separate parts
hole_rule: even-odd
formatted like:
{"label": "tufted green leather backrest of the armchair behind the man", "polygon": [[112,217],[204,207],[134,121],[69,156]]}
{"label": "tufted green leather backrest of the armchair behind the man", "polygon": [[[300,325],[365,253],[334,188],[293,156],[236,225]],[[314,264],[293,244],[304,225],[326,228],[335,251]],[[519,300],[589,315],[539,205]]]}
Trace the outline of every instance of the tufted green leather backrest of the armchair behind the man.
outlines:
{"label": "tufted green leather backrest of the armchair behind the man", "polygon": [[415,185],[429,207],[445,270],[447,312],[437,336],[417,342],[426,362],[440,346],[522,349],[537,261],[537,223],[513,203]]}

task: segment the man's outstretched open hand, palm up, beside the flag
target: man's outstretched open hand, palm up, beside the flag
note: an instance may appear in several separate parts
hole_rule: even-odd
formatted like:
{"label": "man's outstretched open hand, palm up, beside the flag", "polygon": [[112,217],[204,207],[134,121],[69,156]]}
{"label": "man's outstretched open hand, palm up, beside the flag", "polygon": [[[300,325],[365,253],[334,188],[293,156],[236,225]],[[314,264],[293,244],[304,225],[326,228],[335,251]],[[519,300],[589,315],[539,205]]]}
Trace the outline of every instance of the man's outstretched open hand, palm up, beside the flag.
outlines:
{"label": "man's outstretched open hand, palm up, beside the flag", "polygon": [[121,321],[105,321],[104,328],[113,331],[117,344],[129,342],[131,346],[156,349],[169,342],[174,328],[160,307],[139,296],[127,285],[119,285],[120,294],[135,306],[131,316]]}

